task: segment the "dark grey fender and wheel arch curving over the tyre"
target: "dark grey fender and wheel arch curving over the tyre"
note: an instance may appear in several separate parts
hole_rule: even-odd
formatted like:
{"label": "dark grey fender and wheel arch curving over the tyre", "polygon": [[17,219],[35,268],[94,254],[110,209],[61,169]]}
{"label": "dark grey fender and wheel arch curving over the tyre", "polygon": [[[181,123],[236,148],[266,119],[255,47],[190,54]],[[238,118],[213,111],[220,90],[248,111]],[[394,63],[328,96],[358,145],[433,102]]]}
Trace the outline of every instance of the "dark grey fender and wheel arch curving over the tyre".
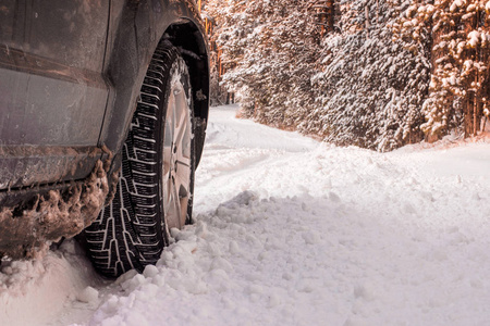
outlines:
{"label": "dark grey fender and wheel arch curving over the tyre", "polygon": [[110,29],[105,65],[110,96],[99,146],[115,153],[111,172],[120,166],[118,153],[127,136],[149,62],[162,39],[181,51],[188,66],[199,161],[209,113],[209,47],[195,4],[188,0],[114,4]]}

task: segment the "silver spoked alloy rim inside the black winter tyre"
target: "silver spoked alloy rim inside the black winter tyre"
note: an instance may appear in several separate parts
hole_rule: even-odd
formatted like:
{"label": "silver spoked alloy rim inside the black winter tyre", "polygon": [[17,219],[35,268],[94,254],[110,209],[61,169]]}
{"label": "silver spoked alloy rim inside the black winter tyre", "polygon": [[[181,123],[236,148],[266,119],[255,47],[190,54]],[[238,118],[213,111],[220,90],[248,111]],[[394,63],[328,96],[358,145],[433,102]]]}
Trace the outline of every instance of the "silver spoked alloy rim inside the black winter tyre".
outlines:
{"label": "silver spoked alloy rim inside the black winter tyre", "polygon": [[185,224],[191,196],[191,115],[180,82],[172,83],[163,130],[163,217],[170,228]]}

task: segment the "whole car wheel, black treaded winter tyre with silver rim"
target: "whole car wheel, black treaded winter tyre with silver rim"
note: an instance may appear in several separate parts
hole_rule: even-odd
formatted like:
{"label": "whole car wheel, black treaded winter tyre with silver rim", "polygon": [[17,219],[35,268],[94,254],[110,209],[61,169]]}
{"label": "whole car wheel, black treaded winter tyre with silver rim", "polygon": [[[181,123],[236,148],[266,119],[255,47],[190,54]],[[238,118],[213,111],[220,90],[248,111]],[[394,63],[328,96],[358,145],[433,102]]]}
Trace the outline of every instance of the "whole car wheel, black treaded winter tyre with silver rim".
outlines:
{"label": "whole car wheel, black treaded winter tyre with silver rim", "polygon": [[158,46],[122,149],[114,199],[85,229],[95,268],[108,277],[155,264],[169,230],[192,222],[196,150],[187,66]]}

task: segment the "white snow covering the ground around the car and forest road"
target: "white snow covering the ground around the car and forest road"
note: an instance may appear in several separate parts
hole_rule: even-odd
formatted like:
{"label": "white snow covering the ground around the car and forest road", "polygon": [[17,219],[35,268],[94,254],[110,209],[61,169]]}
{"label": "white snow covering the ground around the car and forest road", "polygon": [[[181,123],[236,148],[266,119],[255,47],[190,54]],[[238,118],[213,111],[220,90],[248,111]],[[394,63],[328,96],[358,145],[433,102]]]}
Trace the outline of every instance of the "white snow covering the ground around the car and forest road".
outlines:
{"label": "white snow covering the ground around the car and forest road", "polygon": [[3,264],[0,324],[489,325],[488,141],[381,154],[235,109],[211,111],[196,224],[156,267],[108,283],[73,241]]}

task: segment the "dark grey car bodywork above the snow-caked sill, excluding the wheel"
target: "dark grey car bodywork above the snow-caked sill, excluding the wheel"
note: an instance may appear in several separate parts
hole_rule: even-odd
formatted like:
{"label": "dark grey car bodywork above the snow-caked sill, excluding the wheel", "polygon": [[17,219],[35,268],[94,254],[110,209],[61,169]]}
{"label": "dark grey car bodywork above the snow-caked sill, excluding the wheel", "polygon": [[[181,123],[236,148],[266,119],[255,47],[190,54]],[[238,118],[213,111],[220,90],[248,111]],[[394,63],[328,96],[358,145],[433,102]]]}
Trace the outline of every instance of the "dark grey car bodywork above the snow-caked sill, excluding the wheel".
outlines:
{"label": "dark grey car bodywork above the snow-caked sill, excluding the wheel", "polygon": [[[162,38],[189,70],[200,155],[209,63],[194,1],[0,0],[0,212],[21,216],[33,198],[84,183],[100,160],[108,176],[118,171]],[[0,244],[19,233],[2,218]]]}

